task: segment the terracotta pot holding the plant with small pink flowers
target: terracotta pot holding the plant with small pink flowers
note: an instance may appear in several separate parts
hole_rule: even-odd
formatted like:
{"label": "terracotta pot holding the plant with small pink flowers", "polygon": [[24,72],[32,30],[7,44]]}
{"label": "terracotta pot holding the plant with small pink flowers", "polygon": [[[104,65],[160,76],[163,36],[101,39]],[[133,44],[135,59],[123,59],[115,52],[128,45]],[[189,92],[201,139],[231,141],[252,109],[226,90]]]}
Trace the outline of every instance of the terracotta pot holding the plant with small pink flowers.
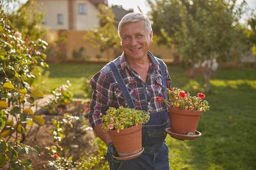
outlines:
{"label": "terracotta pot holding the plant with small pink flowers", "polygon": [[142,150],[141,129],[142,124],[138,124],[137,126],[120,130],[119,133],[117,133],[117,130],[108,131],[119,157],[140,155],[138,153]]}

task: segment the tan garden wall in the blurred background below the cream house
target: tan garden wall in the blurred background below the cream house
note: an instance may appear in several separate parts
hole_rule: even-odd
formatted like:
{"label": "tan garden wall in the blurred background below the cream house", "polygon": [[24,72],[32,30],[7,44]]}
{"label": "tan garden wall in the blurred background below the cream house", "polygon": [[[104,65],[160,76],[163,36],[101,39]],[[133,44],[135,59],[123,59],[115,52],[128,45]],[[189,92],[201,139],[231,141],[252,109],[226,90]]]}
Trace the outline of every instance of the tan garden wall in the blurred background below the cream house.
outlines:
{"label": "tan garden wall in the blurred background below the cream house", "polygon": [[[54,41],[58,40],[59,36],[61,35],[60,32],[63,30],[58,31],[49,31],[45,36],[44,40],[48,42],[50,45],[54,43]],[[78,52],[79,49],[82,47],[83,51],[81,53],[82,60],[90,60],[90,59],[96,59],[97,56],[100,56],[101,59],[107,59],[107,52],[100,52],[98,49],[94,49],[88,42],[86,42],[83,39],[83,36],[85,35],[86,31],[66,31],[67,35],[67,42],[65,44],[61,44],[61,47],[56,47],[54,50],[58,53],[65,54],[66,60],[74,60],[73,58],[73,52]],[[59,50],[59,51],[57,51]],[[61,51],[60,51],[61,50]],[[167,46],[158,46],[156,44],[151,44],[150,46],[150,52],[153,53],[156,57],[159,57],[163,59],[165,62],[173,62],[173,52],[172,49],[168,48]],[[121,55],[122,49],[120,46],[120,49],[113,51],[110,51],[110,59],[113,60],[114,58]],[[49,58],[52,56],[49,56]],[[48,58],[48,57],[47,57]]]}

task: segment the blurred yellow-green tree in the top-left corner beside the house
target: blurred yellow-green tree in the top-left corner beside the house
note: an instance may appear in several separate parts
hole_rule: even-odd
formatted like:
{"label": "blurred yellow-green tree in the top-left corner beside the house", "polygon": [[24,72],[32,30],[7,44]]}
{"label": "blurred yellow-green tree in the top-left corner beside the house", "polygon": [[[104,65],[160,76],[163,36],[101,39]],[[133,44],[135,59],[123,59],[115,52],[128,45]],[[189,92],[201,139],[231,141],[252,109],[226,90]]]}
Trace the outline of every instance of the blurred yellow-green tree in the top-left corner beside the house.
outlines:
{"label": "blurred yellow-green tree in the top-left corner beside the house", "polygon": [[22,39],[27,35],[30,40],[42,39],[49,30],[43,25],[45,9],[42,9],[35,0],[28,0],[26,4],[20,4],[17,0],[3,0],[0,3],[0,9],[3,9],[1,15],[5,15],[10,21],[11,28],[22,33]]}

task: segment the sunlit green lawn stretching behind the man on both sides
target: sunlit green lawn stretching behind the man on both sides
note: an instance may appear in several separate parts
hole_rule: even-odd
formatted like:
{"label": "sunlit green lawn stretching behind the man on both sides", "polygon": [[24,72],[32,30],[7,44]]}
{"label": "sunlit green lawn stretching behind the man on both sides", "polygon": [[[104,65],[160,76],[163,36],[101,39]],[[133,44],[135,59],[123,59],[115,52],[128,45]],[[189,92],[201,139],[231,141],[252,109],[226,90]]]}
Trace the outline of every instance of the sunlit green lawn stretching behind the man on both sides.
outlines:
{"label": "sunlit green lawn stretching behind the man on both sides", "polygon": [[[90,77],[104,64],[49,64],[43,89],[65,84],[69,79],[74,97],[83,97],[81,77]],[[191,79],[189,68],[168,66],[172,87],[191,95],[204,93],[204,79]],[[254,170],[256,169],[256,70],[220,68],[211,77],[211,106],[198,124],[202,136],[179,141],[166,138],[171,170]]]}

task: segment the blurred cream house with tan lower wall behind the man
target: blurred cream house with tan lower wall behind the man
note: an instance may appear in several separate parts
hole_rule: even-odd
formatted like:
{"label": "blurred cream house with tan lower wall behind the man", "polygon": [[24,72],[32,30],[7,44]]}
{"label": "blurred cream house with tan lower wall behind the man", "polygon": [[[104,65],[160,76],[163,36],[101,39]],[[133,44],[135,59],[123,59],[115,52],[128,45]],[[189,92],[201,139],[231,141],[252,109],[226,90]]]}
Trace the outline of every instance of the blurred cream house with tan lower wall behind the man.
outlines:
{"label": "blurred cream house with tan lower wall behind the man", "polygon": [[[93,25],[99,25],[97,18],[99,13],[98,5],[108,5],[108,0],[36,0],[46,9],[46,18],[43,24],[49,26],[49,32],[44,40],[49,43],[47,47],[47,60],[99,60],[106,59],[106,52],[94,49],[83,39],[86,31]],[[118,25],[121,18],[133,9],[124,10],[121,6],[112,6],[115,14],[115,24]],[[155,48],[154,48],[155,46]],[[158,47],[153,45],[161,57],[169,58],[171,50],[166,46]],[[151,51],[151,50],[150,50]],[[111,59],[121,55],[120,50],[111,51]]]}

